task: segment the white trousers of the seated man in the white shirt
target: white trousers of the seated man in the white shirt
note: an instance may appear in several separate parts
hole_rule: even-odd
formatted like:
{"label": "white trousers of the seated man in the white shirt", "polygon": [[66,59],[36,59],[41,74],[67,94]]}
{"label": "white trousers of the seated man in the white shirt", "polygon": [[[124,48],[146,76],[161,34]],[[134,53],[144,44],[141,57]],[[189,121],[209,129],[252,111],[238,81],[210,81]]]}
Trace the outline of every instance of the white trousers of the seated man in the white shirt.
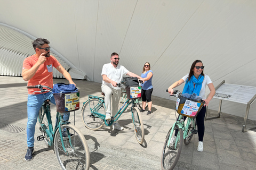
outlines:
{"label": "white trousers of the seated man in the white shirt", "polygon": [[[102,92],[105,94],[105,106],[106,113],[111,113],[111,116],[115,116],[118,112],[118,103],[121,96],[121,90],[113,89],[106,84],[101,86]],[[111,112],[111,96],[112,96],[112,112]]]}

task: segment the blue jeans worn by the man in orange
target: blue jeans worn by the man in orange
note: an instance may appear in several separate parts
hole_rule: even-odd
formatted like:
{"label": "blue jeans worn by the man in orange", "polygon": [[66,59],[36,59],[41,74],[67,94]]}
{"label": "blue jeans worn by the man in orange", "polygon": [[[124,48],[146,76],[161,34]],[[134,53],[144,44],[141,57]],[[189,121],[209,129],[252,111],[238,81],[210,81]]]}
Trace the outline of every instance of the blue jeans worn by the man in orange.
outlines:
{"label": "blue jeans worn by the man in orange", "polygon": [[[55,99],[52,92],[46,92],[45,94],[28,95],[28,124],[27,124],[27,145],[28,147],[34,147],[34,136],[37,122],[37,116],[39,109],[43,105],[44,101],[50,99],[51,103],[55,104]],[[68,121],[70,112],[63,115],[63,119]]]}

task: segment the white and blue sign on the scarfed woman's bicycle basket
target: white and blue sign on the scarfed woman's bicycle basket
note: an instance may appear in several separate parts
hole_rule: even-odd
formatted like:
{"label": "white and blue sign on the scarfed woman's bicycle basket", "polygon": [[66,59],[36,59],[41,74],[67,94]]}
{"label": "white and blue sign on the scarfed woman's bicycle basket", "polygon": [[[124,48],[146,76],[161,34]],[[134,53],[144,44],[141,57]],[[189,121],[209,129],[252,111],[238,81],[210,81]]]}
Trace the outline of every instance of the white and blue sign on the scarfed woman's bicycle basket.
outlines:
{"label": "white and blue sign on the scarfed woman's bicycle basket", "polygon": [[195,101],[186,100],[181,113],[188,116],[195,116],[201,103],[197,103]]}

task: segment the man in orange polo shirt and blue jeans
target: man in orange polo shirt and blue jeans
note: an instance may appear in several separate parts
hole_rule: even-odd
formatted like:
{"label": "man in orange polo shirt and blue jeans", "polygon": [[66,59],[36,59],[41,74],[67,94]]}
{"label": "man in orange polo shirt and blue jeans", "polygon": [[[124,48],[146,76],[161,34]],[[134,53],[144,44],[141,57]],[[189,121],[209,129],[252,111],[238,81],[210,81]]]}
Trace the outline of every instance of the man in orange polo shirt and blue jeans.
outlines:
{"label": "man in orange polo shirt and blue jeans", "polygon": [[[61,64],[50,55],[49,47],[50,41],[43,38],[37,38],[33,43],[36,54],[27,57],[23,61],[22,77],[23,80],[28,81],[28,86],[35,86],[41,84],[53,88],[53,67],[57,69],[64,77],[69,81],[70,84],[75,84],[71,79],[70,74],[61,66]],[[28,89],[28,123],[27,123],[27,154],[25,160],[33,159],[34,151],[34,135],[35,126],[37,122],[37,115],[39,109],[46,99],[50,99],[51,103],[55,105],[55,99],[52,92],[35,92],[38,89]],[[64,119],[68,120],[69,113],[64,115]]]}

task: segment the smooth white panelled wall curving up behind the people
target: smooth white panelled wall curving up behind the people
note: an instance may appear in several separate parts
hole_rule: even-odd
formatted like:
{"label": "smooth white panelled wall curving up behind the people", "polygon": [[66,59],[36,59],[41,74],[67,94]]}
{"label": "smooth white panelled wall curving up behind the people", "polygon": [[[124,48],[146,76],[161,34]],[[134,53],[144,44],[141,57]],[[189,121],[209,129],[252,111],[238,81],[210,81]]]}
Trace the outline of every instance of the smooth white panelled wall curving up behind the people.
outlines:
{"label": "smooth white panelled wall curving up behind the people", "polygon": [[[154,72],[153,95],[163,98],[170,98],[165,89],[186,75],[197,59],[203,61],[204,72],[214,86],[222,80],[256,86],[256,1],[253,0],[0,0],[0,3],[0,23],[50,40],[50,46],[72,68],[70,71],[74,68],[83,74],[77,76],[79,79],[86,75],[87,80],[101,82],[102,66],[116,52],[121,58],[119,64],[139,75],[143,64],[149,62]],[[19,57],[13,55],[12,61],[15,58]],[[1,56],[0,64],[2,61]],[[245,107],[224,102],[222,112],[243,117]],[[210,108],[218,109],[218,101],[213,100]],[[249,118],[256,120],[255,110],[253,104]]]}

